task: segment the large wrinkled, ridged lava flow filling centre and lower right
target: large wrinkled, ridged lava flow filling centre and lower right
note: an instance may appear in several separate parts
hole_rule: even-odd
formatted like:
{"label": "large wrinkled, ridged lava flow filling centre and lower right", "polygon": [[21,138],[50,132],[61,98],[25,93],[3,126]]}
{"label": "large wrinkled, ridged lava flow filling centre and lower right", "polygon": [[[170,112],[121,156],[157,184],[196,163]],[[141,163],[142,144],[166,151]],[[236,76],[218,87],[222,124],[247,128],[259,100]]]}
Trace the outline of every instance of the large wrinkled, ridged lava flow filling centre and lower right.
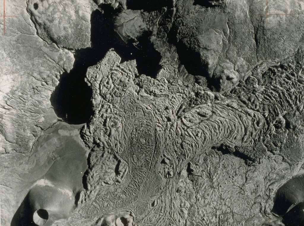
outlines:
{"label": "large wrinkled, ridged lava flow filling centre and lower right", "polygon": [[[268,209],[268,213],[262,213],[264,217],[270,214],[269,193],[279,185],[278,177],[287,176],[285,167],[289,167],[262,141],[271,142],[269,137],[275,132],[269,127],[282,112],[302,106],[299,100],[289,99],[303,92],[304,85],[298,82],[302,66],[287,60],[258,77],[248,77],[229,97],[215,97],[197,84],[186,88],[178,79],[178,70],[171,66],[164,67],[152,82],[137,74],[134,61],[120,61],[110,51],[88,69],[95,114],[83,129],[84,140],[93,152],[89,156],[89,191],[81,198],[81,216],[88,209],[89,215],[96,217],[128,209],[135,214],[138,225],[191,225],[190,220],[198,225],[213,221],[262,224],[260,210]],[[248,85],[256,88],[246,90],[247,96],[235,94]],[[287,88],[291,85],[294,94]],[[271,96],[283,98],[277,99],[281,104],[268,101]],[[253,105],[258,99],[263,106]],[[227,153],[241,158],[225,155],[223,146],[230,150]],[[103,169],[109,168],[105,167],[109,153],[113,165],[117,164],[112,174]],[[295,166],[301,163],[302,153],[297,150],[282,155],[290,161],[297,157]],[[244,160],[260,164],[252,167]],[[238,165],[234,173],[230,172],[233,162]],[[266,168],[273,171],[269,173]],[[105,183],[117,177],[115,183]],[[218,206],[218,200],[227,193],[229,200]],[[224,217],[216,217],[215,208],[225,213]],[[89,219],[85,217],[83,222]]]}

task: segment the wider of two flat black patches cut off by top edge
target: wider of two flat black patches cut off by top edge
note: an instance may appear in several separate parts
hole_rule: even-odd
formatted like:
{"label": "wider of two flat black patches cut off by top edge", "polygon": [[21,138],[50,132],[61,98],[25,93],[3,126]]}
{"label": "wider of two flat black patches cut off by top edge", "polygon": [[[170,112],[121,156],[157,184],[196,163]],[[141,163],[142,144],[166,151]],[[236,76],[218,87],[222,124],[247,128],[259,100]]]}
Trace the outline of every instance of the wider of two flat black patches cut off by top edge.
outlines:
{"label": "wider of two flat black patches cut off by top edge", "polygon": [[163,7],[172,8],[174,6],[173,0],[127,0],[127,9],[143,10],[145,12],[151,12]]}

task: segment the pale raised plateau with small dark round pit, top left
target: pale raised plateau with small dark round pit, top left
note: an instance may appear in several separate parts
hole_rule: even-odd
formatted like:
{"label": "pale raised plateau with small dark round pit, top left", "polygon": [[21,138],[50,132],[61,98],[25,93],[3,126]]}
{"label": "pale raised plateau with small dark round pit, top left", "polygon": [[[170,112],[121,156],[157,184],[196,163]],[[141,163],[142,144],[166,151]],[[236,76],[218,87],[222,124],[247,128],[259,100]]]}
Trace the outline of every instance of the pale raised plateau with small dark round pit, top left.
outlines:
{"label": "pale raised plateau with small dark round pit, top left", "polygon": [[67,49],[86,48],[90,42],[92,3],[88,0],[29,0],[27,11],[37,35]]}

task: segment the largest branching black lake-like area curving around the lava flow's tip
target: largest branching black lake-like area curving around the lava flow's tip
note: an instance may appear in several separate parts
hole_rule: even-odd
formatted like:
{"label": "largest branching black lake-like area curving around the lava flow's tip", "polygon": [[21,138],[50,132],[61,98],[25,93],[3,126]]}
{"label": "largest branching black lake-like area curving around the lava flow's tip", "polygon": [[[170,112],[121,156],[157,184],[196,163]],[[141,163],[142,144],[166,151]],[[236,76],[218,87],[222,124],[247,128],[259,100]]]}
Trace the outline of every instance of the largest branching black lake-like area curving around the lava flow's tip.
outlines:
{"label": "largest branching black lake-like area curving around the lava flow's tip", "polygon": [[60,76],[59,84],[52,93],[50,101],[56,115],[69,124],[88,122],[93,114],[92,90],[85,82],[88,67],[97,64],[110,48],[122,58],[122,62],[136,60],[139,74],[155,78],[161,69],[161,54],[150,42],[150,32],[144,32],[136,43],[124,43],[114,31],[114,19],[119,9],[103,5],[91,15],[91,47],[76,50],[72,70]]}

